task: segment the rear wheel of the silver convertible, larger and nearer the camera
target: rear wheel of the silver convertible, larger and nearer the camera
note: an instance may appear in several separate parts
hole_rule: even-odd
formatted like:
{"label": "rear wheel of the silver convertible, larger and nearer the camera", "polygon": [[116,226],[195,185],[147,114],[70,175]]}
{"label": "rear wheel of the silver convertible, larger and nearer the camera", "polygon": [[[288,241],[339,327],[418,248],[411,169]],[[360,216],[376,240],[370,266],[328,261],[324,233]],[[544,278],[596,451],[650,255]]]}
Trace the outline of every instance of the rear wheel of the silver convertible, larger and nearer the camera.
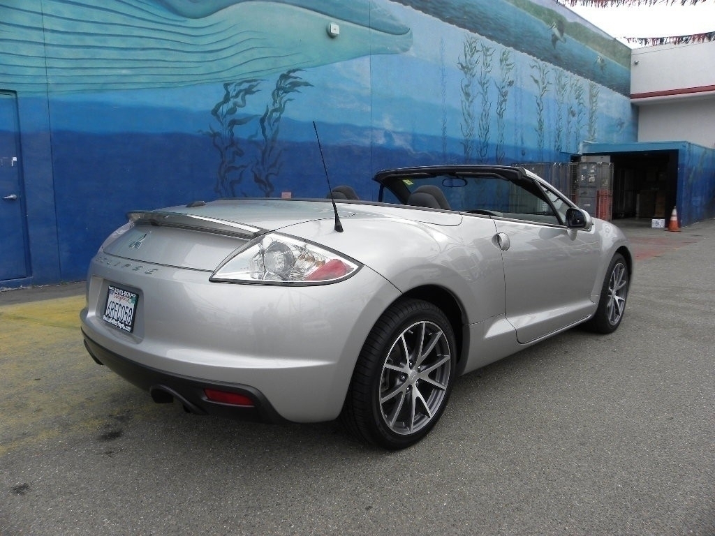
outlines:
{"label": "rear wheel of the silver convertible, larger and nearer the camera", "polygon": [[455,377],[455,337],[445,314],[410,299],[390,306],[360,351],[341,420],[352,435],[390,450],[432,430]]}

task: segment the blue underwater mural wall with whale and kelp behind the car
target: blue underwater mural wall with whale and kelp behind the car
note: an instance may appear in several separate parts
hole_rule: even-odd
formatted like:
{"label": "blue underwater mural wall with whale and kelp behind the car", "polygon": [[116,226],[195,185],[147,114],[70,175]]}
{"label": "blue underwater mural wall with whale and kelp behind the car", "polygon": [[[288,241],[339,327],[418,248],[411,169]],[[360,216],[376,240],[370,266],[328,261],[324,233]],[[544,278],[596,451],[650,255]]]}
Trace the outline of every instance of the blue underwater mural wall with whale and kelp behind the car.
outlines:
{"label": "blue underwater mural wall with whale and kelp behind the car", "polygon": [[130,209],[324,197],[312,121],[365,199],[387,167],[634,142],[629,58],[551,0],[0,0],[31,282],[82,279]]}

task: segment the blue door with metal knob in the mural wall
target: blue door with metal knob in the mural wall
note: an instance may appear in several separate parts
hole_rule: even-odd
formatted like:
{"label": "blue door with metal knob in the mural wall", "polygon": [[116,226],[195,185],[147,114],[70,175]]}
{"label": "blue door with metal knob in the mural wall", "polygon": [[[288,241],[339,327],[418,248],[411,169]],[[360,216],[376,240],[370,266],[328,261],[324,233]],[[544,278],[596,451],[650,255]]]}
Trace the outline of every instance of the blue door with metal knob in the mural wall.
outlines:
{"label": "blue door with metal knob in the mural wall", "polygon": [[0,280],[27,277],[17,97],[0,91]]}

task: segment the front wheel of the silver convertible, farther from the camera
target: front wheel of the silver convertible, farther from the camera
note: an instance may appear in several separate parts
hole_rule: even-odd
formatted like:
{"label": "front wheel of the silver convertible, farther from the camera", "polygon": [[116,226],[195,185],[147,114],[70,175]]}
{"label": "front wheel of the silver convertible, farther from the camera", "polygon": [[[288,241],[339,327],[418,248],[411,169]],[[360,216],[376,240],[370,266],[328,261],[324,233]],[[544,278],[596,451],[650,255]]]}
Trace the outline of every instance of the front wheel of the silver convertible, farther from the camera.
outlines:
{"label": "front wheel of the silver convertible, farther from the camera", "polygon": [[628,298],[628,266],[623,255],[613,255],[601,287],[598,309],[586,327],[596,333],[613,333],[621,325]]}

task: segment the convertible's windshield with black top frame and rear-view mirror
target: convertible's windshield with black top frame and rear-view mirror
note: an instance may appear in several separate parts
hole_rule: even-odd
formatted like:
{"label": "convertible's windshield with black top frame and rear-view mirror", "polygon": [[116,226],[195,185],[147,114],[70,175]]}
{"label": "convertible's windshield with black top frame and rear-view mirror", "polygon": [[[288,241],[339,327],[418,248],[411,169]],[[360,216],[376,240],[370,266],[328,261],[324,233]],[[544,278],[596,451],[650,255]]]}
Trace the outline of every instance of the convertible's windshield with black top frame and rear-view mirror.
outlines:
{"label": "convertible's windshield with black top frame and rear-view mirror", "polygon": [[[545,191],[533,179],[516,172],[416,173],[412,176],[392,177],[385,182],[385,186],[400,204],[547,224],[563,222],[568,209],[566,202],[556,192],[551,189]],[[390,197],[385,196],[385,200],[390,201]],[[554,202],[558,203],[558,213],[554,209]]]}

